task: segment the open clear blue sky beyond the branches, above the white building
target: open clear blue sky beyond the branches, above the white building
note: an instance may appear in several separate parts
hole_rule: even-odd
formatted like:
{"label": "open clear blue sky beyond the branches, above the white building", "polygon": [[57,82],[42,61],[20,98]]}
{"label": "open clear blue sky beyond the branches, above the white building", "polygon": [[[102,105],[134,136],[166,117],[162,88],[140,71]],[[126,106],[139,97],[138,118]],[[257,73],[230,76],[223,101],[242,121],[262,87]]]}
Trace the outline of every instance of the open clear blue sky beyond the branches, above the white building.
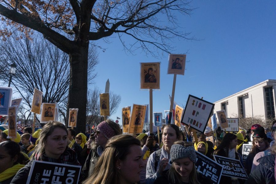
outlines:
{"label": "open clear blue sky beyond the branches, above the white building", "polygon": [[[177,75],[174,100],[186,104],[189,94],[216,102],[266,79],[276,79],[276,1],[193,1],[191,16],[179,16],[183,31],[198,41],[172,40],[176,51],[187,53],[185,75]],[[124,37],[128,43],[128,37]],[[161,87],[153,91],[153,112],[170,109],[173,75],[167,74],[168,57],[145,56],[138,50],[126,53],[118,36],[99,52],[96,85],[120,94],[122,101],[111,116],[121,118],[121,108],[148,104],[149,91],[140,89],[140,62],[161,62]],[[94,86],[89,86],[93,89]],[[121,120],[119,120],[121,124]]]}

